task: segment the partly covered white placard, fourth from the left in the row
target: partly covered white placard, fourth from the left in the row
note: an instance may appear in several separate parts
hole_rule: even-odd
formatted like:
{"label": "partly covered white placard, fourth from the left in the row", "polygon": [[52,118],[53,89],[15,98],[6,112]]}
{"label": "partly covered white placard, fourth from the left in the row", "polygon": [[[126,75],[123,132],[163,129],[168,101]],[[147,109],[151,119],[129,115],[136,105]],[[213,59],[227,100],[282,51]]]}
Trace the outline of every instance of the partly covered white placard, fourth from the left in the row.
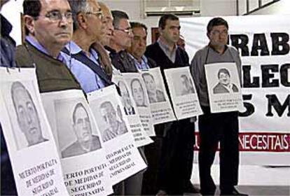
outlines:
{"label": "partly covered white placard, fourth from the left in the row", "polygon": [[121,109],[123,109],[123,111],[125,112],[124,118],[127,118],[129,122],[130,131],[133,134],[136,146],[140,147],[151,144],[153,140],[145,132],[144,127],[141,124],[137,106],[134,102],[129,87],[125,82],[125,79],[121,75],[113,75],[112,81],[119,87],[120,99],[122,100],[123,104],[123,107]]}

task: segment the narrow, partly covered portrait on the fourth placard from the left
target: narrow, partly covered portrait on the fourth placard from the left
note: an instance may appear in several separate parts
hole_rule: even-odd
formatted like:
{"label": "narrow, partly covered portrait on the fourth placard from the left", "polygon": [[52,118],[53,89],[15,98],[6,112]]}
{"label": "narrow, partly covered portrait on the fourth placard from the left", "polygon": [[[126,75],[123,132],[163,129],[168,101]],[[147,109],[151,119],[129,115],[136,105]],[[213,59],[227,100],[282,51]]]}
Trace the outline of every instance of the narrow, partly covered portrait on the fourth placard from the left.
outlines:
{"label": "narrow, partly covered portrait on the fourth placard from the left", "polygon": [[122,97],[122,102],[124,105],[125,115],[134,115],[135,109],[132,104],[132,100],[129,94],[129,90],[127,89],[127,85],[123,81],[118,82],[118,87],[120,88],[120,95]]}

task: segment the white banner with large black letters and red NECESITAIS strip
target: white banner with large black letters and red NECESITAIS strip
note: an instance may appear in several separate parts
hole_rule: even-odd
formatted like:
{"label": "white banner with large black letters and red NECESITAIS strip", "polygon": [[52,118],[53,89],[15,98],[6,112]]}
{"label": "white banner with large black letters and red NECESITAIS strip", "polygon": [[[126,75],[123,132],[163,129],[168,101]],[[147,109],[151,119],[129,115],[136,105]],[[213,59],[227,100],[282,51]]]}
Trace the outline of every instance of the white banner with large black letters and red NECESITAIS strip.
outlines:
{"label": "white banner with large black letters and red NECESITAIS strip", "polygon": [[[290,21],[283,15],[223,17],[229,44],[242,57],[241,162],[290,165]],[[212,18],[182,18],[181,34],[191,59],[209,43]]]}

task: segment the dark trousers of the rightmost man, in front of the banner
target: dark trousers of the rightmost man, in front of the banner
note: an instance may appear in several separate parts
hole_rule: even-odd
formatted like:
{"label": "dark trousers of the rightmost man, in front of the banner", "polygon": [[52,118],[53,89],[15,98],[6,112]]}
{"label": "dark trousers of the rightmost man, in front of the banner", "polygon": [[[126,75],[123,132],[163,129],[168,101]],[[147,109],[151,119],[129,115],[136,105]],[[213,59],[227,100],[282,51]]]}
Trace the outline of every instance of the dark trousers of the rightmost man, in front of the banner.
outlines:
{"label": "dark trousers of the rightmost man, in front of the banner", "polygon": [[210,113],[209,107],[202,107],[199,116],[200,191],[202,195],[213,195],[216,186],[210,169],[220,143],[220,188],[231,190],[237,185],[239,167],[239,123],[237,112]]}

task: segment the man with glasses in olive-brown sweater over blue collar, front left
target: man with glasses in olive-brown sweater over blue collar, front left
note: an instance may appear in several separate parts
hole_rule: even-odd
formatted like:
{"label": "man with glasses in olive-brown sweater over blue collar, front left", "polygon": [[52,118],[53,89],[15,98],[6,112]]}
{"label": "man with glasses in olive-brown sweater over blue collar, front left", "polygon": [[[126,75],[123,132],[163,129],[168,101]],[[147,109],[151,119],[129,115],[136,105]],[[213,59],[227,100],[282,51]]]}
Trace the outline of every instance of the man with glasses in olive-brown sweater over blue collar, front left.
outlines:
{"label": "man with glasses in olive-brown sweater over blue collar, front left", "polygon": [[25,0],[23,10],[26,37],[16,50],[17,65],[36,67],[40,92],[81,89],[60,52],[72,36],[67,0]]}

